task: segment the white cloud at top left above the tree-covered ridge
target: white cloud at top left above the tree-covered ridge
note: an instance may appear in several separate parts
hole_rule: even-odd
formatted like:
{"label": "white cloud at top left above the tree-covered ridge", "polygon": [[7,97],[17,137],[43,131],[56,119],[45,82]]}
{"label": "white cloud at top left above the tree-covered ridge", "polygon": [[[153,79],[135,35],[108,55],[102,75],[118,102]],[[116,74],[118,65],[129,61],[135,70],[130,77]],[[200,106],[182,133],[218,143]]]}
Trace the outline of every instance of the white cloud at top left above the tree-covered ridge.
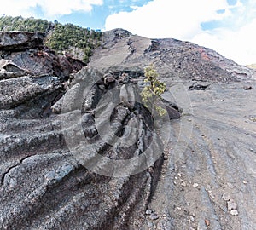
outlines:
{"label": "white cloud at top left above the tree-covered ridge", "polygon": [[93,5],[102,5],[102,0],[8,0],[1,3],[0,14],[24,17],[37,16],[35,7],[40,7],[44,17],[54,19],[74,11],[90,12]]}

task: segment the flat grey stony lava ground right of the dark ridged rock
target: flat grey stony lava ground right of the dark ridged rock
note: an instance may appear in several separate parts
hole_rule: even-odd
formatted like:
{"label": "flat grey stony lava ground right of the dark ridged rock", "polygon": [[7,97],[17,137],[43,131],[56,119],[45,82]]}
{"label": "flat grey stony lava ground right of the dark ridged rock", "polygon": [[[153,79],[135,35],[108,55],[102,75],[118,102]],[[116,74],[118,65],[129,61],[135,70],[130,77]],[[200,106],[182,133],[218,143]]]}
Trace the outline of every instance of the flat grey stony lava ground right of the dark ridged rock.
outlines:
{"label": "flat grey stony lava ground right of the dark ridged rock", "polygon": [[[190,82],[169,89],[179,98]],[[256,191],[255,81],[211,83],[179,101],[171,148],[148,206],[144,229],[254,229]],[[154,218],[154,215],[153,215]]]}

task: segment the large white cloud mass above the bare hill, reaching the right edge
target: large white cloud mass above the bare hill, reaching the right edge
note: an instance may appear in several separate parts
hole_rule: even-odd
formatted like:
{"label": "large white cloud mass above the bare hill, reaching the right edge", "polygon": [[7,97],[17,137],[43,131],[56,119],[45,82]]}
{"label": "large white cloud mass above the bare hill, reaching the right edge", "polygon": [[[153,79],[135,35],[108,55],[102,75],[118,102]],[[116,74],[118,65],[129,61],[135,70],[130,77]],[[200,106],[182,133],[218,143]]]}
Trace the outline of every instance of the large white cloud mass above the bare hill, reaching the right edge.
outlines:
{"label": "large white cloud mass above the bare hill, reaching the right edge", "polygon": [[[109,15],[105,28],[187,40],[215,49],[239,64],[255,63],[256,2],[241,1],[230,6],[226,0],[154,0],[130,13]],[[224,9],[223,14],[217,13],[220,9]],[[218,28],[202,30],[202,22],[213,20],[218,21]]]}

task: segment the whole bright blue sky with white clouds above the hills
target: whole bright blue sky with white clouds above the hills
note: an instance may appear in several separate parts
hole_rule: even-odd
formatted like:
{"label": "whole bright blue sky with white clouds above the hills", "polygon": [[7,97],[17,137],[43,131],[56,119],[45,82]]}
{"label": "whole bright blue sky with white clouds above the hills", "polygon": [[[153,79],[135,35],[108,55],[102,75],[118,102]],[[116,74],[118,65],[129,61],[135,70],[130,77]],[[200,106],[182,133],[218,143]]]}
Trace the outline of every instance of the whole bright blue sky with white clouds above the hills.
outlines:
{"label": "whole bright blue sky with white clouds above the hills", "polygon": [[0,14],[102,31],[122,27],[144,37],[198,43],[239,64],[256,63],[255,0],[9,0]]}

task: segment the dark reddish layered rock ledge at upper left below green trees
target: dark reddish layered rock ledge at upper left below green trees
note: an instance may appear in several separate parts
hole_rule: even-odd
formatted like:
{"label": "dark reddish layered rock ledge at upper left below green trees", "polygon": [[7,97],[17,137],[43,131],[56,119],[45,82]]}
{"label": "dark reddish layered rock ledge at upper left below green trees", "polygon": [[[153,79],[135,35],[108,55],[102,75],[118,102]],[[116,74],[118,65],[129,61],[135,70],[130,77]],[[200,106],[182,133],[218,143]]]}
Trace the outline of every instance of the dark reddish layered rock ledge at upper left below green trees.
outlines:
{"label": "dark reddish layered rock ledge at upper left below green trees", "polygon": [[[1,68],[6,70],[12,66],[13,69],[8,72],[17,72],[20,69],[21,72],[29,72],[31,75],[54,75],[64,79],[84,66],[81,60],[56,55],[54,51],[44,47],[44,33],[1,32],[0,38]],[[12,76],[2,72],[0,78],[4,78],[4,75],[7,78]]]}

